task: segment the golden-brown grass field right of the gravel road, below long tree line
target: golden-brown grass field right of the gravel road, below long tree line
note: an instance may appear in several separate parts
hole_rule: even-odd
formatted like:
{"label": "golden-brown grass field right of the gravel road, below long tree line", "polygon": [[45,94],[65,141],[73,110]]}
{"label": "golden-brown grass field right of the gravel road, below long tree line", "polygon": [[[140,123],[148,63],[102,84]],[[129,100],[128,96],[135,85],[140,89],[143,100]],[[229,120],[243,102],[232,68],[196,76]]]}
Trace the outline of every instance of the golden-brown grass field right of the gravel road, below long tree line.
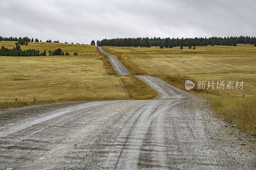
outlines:
{"label": "golden-brown grass field right of the gravel road, below long tree line", "polygon": [[[182,50],[179,47],[103,48],[116,55],[133,75],[159,77],[183,90],[186,90],[186,80],[193,81],[195,87],[189,92],[210,100],[219,116],[236,122],[244,131],[256,133],[256,48],[253,45],[197,46],[195,50],[188,47]],[[243,89],[218,90],[215,84],[213,90],[206,90],[208,81],[218,80],[244,81]],[[205,90],[196,89],[197,81],[206,81]]]}

